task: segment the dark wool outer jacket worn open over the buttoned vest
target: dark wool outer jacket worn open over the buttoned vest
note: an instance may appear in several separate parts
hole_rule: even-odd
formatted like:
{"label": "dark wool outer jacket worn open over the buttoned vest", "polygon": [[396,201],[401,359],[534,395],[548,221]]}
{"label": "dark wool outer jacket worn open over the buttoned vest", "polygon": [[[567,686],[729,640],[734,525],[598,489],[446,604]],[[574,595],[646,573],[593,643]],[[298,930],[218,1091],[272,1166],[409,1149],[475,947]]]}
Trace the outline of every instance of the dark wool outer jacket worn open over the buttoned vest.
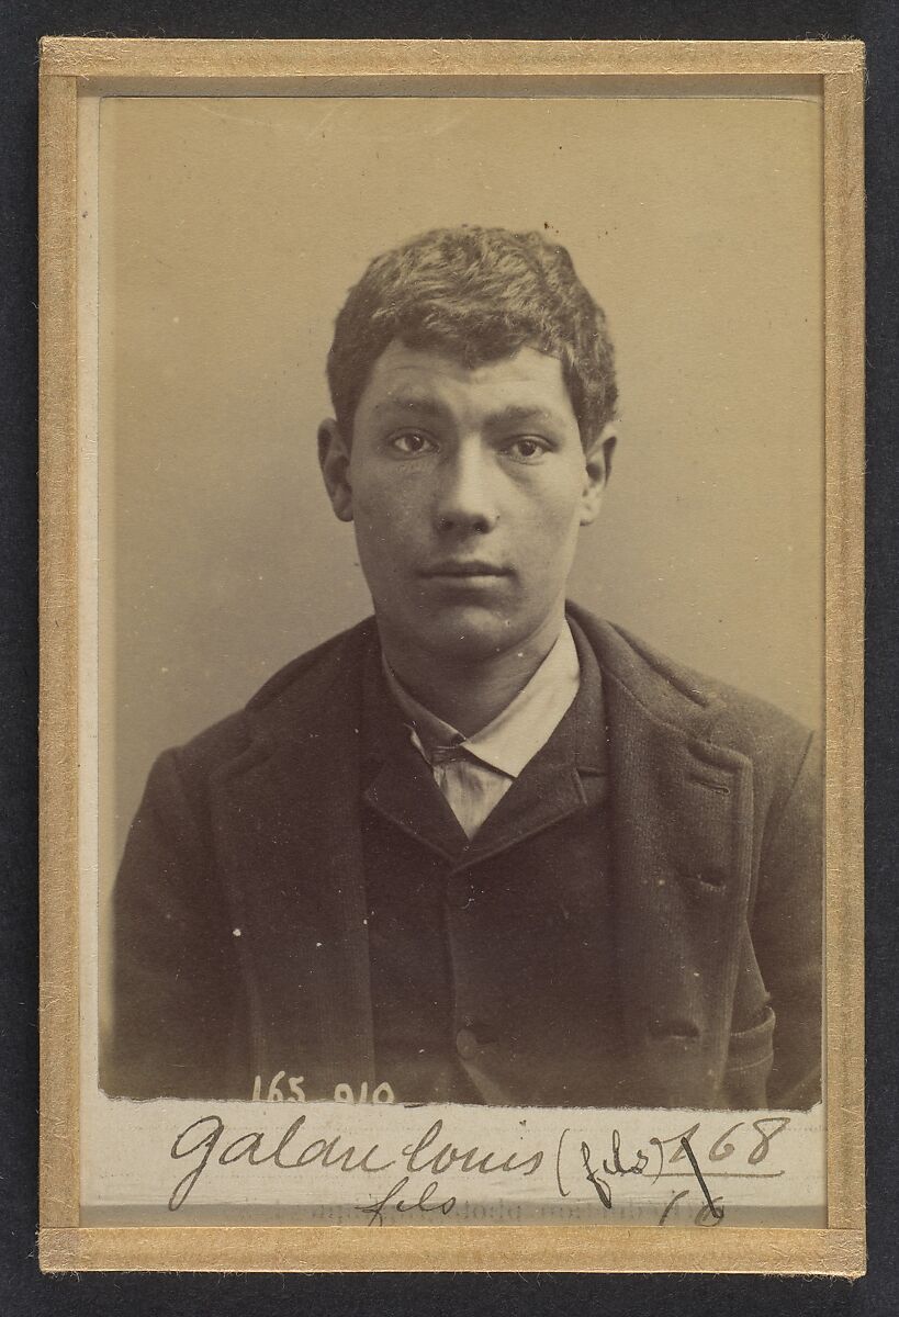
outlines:
{"label": "dark wool outer jacket worn open over the buttoned vest", "polygon": [[[580,608],[608,738],[630,1105],[808,1108],[821,1084],[823,781],[812,736]],[[373,620],[166,751],[115,893],[102,1083],[249,1098],[377,1083],[360,840]],[[534,984],[539,992],[539,984]],[[308,1079],[314,1076],[310,1088]]]}

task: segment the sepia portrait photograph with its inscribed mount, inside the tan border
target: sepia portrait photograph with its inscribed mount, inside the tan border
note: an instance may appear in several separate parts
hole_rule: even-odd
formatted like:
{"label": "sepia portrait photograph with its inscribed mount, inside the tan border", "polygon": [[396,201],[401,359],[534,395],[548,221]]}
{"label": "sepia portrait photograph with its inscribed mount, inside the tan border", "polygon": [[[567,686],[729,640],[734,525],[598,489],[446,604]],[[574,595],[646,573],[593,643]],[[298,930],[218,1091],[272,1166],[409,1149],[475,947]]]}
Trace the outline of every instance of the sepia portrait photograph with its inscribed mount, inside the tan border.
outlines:
{"label": "sepia portrait photograph with its inscribed mount, inside the tan border", "polygon": [[79,1221],[826,1230],[823,76],[87,72]]}

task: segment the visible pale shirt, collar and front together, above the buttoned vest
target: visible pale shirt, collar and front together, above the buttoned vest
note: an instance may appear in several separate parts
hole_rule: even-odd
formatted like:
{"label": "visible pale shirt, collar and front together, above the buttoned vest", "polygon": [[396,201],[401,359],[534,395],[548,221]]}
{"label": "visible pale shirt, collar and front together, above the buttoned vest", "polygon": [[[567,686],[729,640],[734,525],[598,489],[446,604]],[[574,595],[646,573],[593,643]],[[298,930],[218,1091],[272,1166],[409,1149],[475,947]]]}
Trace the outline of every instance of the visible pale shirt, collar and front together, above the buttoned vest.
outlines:
{"label": "visible pale shirt, collar and front together, above the buttoned vest", "polygon": [[580,686],[577,651],[567,622],[527,685],[472,736],[464,736],[414,699],[384,660],[390,691],[409,719],[413,745],[431,766],[471,840],[511,784],[546,745]]}

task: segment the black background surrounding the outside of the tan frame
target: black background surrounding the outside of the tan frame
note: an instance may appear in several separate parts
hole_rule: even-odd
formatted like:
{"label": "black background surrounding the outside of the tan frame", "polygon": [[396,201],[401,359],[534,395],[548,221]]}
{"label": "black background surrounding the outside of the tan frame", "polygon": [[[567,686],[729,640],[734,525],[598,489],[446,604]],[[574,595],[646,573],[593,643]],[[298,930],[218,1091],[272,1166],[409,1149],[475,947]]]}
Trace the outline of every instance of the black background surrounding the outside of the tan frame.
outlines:
{"label": "black background surrounding the outside of the tan frame", "polygon": [[[895,0],[0,0],[0,1312],[899,1313],[894,882],[899,860],[899,238]],[[41,1276],[37,1267],[37,61],[41,36],[803,40],[867,43],[869,1275]]]}

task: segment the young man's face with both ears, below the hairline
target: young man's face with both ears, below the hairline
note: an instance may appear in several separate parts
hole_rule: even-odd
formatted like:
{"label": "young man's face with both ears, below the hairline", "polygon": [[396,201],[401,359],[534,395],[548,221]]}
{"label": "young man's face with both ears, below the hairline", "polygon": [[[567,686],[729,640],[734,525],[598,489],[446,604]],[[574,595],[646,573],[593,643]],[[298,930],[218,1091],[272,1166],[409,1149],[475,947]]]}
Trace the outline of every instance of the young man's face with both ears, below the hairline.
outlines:
{"label": "young man's face with both ears, below the hairline", "polygon": [[477,662],[558,626],[612,443],[584,452],[555,357],[521,348],[469,370],[394,340],[360,398],[352,445],[334,421],[319,432],[385,644]]}

